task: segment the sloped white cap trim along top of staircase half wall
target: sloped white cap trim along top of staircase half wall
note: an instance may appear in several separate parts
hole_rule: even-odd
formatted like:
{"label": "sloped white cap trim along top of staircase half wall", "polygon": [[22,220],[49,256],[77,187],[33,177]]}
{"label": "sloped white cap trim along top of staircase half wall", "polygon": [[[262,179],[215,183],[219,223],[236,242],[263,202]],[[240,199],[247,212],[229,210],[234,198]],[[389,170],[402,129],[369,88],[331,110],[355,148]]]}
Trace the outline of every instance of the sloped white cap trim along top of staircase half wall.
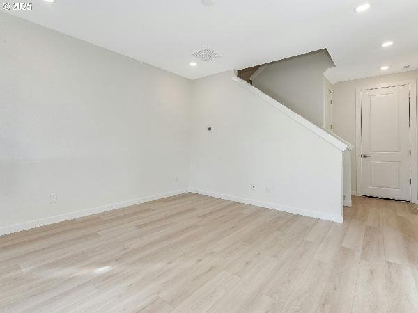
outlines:
{"label": "sloped white cap trim along top of staircase half wall", "polygon": [[243,81],[239,77],[233,76],[233,77],[231,77],[231,79],[233,81],[235,81],[236,83],[238,83],[241,87],[249,90],[251,93],[254,93],[254,95],[257,95],[258,97],[263,99],[265,102],[267,102],[271,106],[274,106],[274,108],[281,111],[281,113],[284,113],[284,115],[287,115],[292,120],[295,120],[300,125],[306,127],[307,129],[312,131],[314,134],[318,135],[320,138],[323,138],[328,143],[331,143],[332,145],[334,145],[339,150],[344,151],[344,150],[347,149],[347,145],[345,143],[339,141],[334,136],[331,136],[326,131],[324,131],[322,128],[320,128],[320,127],[316,126],[315,124],[309,122],[309,120],[306,120],[305,118],[302,118],[302,116],[293,112],[291,109],[288,109],[287,106],[284,106],[280,102],[277,102],[272,97],[269,97],[268,95],[263,93],[258,88],[255,88],[254,86],[251,86],[249,83],[247,83],[246,81]]}

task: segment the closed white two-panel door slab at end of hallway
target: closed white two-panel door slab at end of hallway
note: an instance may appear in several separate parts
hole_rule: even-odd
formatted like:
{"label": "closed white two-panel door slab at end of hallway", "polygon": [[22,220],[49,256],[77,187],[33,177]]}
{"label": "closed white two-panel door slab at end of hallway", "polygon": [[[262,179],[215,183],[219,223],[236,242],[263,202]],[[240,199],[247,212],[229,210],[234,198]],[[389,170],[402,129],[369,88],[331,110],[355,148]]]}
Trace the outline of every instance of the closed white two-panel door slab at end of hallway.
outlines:
{"label": "closed white two-panel door slab at end of hallway", "polygon": [[362,90],[362,195],[407,200],[409,86]]}

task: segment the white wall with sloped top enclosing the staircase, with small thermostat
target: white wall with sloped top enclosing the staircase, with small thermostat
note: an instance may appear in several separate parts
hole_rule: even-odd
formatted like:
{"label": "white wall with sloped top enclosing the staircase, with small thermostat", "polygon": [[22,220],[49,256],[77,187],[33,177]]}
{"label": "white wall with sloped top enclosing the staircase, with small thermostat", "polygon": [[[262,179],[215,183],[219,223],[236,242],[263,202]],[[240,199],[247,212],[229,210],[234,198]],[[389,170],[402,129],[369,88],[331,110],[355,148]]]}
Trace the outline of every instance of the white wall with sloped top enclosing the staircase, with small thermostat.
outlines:
{"label": "white wall with sloped top enclosing the staircase, with small thermostat", "polygon": [[239,86],[232,74],[193,81],[192,190],[341,220],[341,150]]}

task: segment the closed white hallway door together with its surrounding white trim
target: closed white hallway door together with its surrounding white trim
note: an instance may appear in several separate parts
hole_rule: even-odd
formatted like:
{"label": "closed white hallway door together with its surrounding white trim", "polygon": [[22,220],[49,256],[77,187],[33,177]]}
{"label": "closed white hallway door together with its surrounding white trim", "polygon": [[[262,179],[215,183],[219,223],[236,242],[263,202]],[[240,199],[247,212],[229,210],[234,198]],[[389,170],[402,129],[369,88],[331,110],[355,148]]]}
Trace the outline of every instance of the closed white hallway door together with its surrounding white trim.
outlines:
{"label": "closed white hallway door together with its surrounding white trim", "polygon": [[357,89],[357,194],[417,202],[415,81]]}

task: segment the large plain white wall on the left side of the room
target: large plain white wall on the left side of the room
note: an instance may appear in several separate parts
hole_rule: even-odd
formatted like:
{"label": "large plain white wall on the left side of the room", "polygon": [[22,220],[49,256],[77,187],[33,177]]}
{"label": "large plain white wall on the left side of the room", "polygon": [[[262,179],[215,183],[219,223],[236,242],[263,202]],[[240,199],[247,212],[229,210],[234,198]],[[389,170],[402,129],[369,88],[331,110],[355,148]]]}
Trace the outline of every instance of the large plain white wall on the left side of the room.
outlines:
{"label": "large plain white wall on the left side of the room", "polygon": [[188,188],[191,81],[3,13],[0,29],[0,234]]}

